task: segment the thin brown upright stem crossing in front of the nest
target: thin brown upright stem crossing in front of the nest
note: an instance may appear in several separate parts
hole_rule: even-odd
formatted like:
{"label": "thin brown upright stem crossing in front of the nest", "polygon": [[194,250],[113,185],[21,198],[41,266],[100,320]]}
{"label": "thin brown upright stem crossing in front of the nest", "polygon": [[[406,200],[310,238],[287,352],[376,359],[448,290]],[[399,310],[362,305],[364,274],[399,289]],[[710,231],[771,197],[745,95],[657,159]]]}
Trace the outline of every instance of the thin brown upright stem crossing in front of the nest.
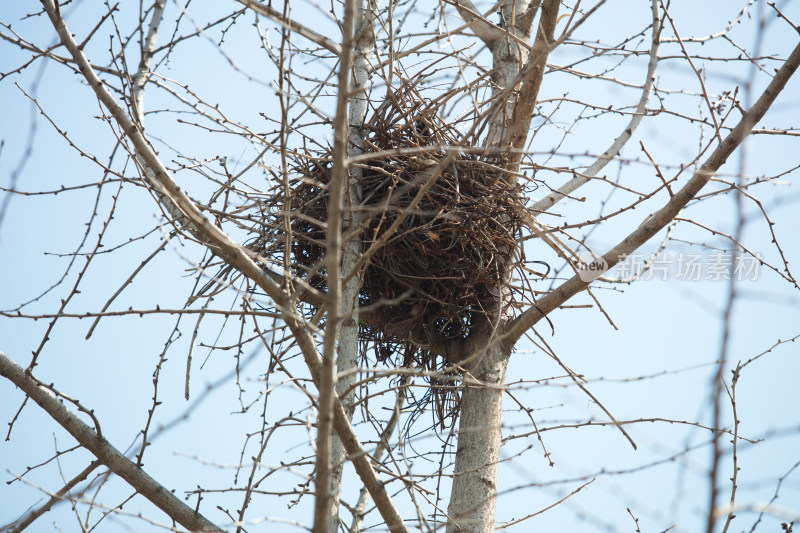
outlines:
{"label": "thin brown upright stem crossing in front of the nest", "polygon": [[328,187],[328,228],[325,239],[325,272],[327,274],[327,307],[325,335],[322,344],[322,370],[319,379],[319,415],[317,418],[317,477],[314,480],[314,533],[326,533],[331,500],[331,423],[333,419],[333,385],[336,382],[336,341],[342,315],[342,213],[344,188],[350,180],[347,171],[347,101],[350,93],[350,69],[353,66],[353,29],[356,1],[344,5],[342,51],[339,55],[338,97],[333,122],[333,173]]}

